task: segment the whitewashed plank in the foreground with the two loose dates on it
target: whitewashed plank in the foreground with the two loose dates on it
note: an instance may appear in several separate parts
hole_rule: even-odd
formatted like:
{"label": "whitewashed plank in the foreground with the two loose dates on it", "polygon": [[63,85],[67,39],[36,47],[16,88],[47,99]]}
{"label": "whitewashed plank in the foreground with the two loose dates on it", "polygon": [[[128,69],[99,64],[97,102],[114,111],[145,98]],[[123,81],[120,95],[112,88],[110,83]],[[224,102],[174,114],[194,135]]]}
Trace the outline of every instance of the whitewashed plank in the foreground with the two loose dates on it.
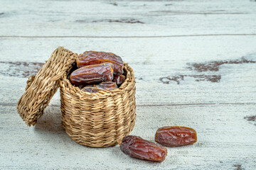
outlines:
{"label": "whitewashed plank in the foreground with the two loose dates on it", "polygon": [[254,169],[256,166],[255,115],[252,106],[137,107],[132,135],[154,140],[164,125],[195,128],[198,142],[168,148],[161,164],[132,159],[119,146],[90,148],[76,144],[61,125],[59,107],[48,107],[34,128],[29,128],[14,106],[0,106],[0,169]]}

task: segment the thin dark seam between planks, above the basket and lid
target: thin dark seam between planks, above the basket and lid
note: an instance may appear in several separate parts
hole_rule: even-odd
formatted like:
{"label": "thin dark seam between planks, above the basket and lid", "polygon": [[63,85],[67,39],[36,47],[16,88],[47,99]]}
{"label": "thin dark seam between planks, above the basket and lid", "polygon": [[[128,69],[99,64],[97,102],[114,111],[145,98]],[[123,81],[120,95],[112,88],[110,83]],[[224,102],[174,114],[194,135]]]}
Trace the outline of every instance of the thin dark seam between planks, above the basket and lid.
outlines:
{"label": "thin dark seam between planks, above the basket and lid", "polygon": [[19,36],[0,35],[0,38],[176,38],[176,37],[209,37],[209,36],[256,36],[256,34],[197,34],[197,35],[154,35],[154,36]]}

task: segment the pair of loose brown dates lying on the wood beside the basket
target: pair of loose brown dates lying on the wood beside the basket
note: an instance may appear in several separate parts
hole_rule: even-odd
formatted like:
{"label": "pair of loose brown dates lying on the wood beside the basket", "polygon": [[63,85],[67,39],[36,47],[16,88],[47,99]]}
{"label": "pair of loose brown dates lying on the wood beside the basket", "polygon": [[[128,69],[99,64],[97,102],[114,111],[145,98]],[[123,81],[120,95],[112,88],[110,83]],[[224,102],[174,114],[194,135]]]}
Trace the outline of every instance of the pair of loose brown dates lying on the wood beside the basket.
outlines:
{"label": "pair of loose brown dates lying on the wood beside the basket", "polygon": [[[191,145],[197,140],[196,130],[183,126],[166,126],[156,130],[155,141],[166,147]],[[167,149],[142,137],[128,135],[122,139],[120,149],[124,154],[137,159],[163,162]]]}

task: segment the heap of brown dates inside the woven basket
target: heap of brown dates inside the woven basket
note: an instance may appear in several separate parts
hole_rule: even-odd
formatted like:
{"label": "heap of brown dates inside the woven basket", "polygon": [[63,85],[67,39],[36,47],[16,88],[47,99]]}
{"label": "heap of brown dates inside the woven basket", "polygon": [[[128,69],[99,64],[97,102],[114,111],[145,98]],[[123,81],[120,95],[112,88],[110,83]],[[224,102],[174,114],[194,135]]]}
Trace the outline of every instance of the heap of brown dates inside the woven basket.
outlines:
{"label": "heap of brown dates inside the woven basket", "polygon": [[122,58],[111,52],[85,51],[78,55],[76,64],[68,79],[82,91],[117,89],[126,79]]}

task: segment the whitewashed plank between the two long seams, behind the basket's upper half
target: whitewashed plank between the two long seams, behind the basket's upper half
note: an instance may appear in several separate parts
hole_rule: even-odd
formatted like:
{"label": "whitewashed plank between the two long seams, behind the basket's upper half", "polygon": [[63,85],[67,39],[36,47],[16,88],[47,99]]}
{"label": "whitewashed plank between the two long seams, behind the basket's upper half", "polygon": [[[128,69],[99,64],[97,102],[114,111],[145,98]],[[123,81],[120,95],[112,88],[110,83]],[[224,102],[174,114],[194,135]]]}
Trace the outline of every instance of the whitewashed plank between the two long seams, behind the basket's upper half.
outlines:
{"label": "whitewashed plank between the two long seams, behind the basket's upper half", "polygon": [[[79,53],[102,50],[120,55],[134,69],[139,106],[255,104],[254,36],[0,38],[0,42],[0,104],[4,105],[16,104],[28,75],[36,74],[58,45]],[[51,104],[59,105],[59,100],[56,94]]]}

